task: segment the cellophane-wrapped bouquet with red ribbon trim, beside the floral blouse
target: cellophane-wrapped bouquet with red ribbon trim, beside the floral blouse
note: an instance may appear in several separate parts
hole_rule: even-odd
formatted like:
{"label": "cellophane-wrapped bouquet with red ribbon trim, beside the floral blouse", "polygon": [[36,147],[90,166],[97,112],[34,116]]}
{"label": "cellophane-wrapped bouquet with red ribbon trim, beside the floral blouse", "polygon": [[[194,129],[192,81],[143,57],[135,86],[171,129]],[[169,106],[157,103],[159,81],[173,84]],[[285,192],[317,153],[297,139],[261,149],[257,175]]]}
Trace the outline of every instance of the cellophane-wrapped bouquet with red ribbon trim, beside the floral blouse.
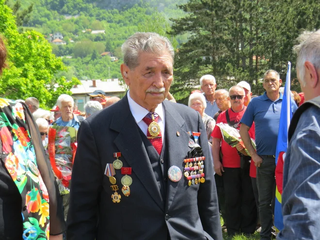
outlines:
{"label": "cellophane-wrapped bouquet with red ribbon trim, beside the floral blouse", "polygon": [[77,130],[53,125],[48,133],[48,153],[61,194],[69,192],[72,166],[77,150]]}

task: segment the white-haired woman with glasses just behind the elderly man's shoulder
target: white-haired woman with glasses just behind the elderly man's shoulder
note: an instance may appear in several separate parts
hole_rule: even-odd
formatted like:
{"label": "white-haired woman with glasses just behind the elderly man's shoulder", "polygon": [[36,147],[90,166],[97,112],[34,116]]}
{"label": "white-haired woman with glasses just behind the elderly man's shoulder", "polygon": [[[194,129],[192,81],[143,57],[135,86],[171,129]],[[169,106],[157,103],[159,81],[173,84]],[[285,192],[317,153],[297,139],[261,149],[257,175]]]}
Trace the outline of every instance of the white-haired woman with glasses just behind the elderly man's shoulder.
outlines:
{"label": "white-haired woman with glasses just behind the elderly man's shoulder", "polygon": [[201,93],[191,94],[189,97],[188,106],[200,113],[203,124],[206,127],[208,142],[212,143],[211,133],[216,125],[216,121],[214,121],[212,117],[205,113],[205,109],[207,107],[205,96],[203,96]]}

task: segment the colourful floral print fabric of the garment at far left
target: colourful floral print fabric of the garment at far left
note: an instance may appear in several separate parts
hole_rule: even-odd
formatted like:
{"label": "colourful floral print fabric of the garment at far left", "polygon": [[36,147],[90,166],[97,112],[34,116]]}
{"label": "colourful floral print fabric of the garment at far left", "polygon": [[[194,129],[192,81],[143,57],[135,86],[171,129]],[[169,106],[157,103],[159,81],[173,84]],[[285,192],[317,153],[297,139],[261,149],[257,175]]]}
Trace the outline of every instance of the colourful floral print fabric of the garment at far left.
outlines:
{"label": "colourful floral print fabric of the garment at far left", "polygon": [[3,154],[6,156],[5,167],[22,199],[25,199],[22,239],[48,240],[48,191],[37,169],[31,135],[20,103],[0,98],[0,137]]}

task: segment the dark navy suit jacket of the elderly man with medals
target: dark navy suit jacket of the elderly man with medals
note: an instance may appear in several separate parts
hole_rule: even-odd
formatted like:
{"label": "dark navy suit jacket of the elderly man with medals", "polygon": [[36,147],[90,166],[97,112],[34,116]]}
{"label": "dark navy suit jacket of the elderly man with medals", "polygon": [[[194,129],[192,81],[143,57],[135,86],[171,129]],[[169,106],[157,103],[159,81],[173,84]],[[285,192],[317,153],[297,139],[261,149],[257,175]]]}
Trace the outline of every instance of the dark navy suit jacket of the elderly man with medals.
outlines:
{"label": "dark navy suit jacket of the elderly man with medals", "polygon": [[[80,126],[67,218],[68,240],[222,240],[214,170],[202,119],[181,104],[164,101],[163,109],[167,167],[178,166],[183,173],[183,160],[190,151],[188,131],[201,132],[199,144],[207,157],[206,182],[188,186],[184,176],[178,182],[168,180],[163,199],[125,96]],[[121,152],[123,166],[132,168],[128,197],[121,192],[122,175],[116,170],[120,203],[112,202],[112,184],[104,175],[106,164],[115,160],[114,152]]]}

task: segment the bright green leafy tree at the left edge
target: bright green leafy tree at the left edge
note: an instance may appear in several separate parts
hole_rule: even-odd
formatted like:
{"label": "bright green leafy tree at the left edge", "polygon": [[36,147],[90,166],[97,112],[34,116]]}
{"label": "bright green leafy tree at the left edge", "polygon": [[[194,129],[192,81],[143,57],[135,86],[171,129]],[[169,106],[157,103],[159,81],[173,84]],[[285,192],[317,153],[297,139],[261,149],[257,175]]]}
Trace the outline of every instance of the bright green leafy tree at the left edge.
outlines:
{"label": "bright green leafy tree at the left edge", "polygon": [[79,81],[73,78],[55,78],[64,70],[48,41],[35,31],[19,33],[9,7],[0,0],[0,32],[6,39],[9,68],[4,69],[0,80],[0,96],[25,99],[34,96],[41,107],[51,107],[62,93],[70,94],[71,87]]}

